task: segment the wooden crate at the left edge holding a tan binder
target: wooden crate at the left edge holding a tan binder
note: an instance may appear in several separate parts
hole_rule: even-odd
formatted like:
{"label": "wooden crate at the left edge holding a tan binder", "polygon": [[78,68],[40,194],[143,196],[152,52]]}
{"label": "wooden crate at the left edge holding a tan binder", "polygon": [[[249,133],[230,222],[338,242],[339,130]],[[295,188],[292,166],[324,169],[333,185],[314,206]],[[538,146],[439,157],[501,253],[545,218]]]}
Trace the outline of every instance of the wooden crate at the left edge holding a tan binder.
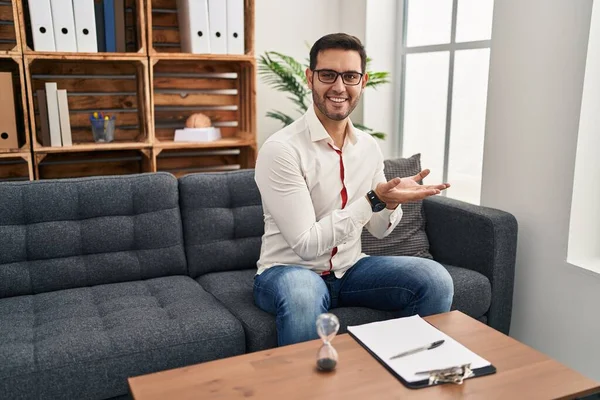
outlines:
{"label": "wooden crate at the left edge holding a tan binder", "polygon": [[[27,92],[25,90],[25,69],[22,56],[16,54],[0,54],[0,72],[10,72],[12,74],[18,135],[18,147],[0,148],[0,154],[29,152],[29,118],[26,100]],[[0,107],[1,106],[2,105],[0,104]]]}

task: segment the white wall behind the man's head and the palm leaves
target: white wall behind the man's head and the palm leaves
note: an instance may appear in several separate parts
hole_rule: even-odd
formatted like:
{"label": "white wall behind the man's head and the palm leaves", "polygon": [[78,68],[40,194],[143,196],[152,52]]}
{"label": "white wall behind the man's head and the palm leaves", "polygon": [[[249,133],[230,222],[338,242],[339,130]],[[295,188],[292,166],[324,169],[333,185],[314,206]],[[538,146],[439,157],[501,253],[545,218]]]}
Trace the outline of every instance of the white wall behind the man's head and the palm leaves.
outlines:
{"label": "white wall behind the man's head and the palm leaves", "polygon": [[[310,47],[319,37],[346,32],[358,37],[373,58],[374,70],[394,72],[395,68],[395,0],[259,0],[256,2],[256,54],[280,51],[299,60],[308,58]],[[395,79],[395,76],[392,76]],[[351,115],[352,121],[386,132],[388,139],[379,141],[384,156],[393,153],[392,140],[397,129],[394,121],[398,105],[394,100],[395,84],[369,89]],[[286,95],[275,91],[257,77],[257,118],[259,147],[281,124],[265,117],[276,109],[299,116]]]}

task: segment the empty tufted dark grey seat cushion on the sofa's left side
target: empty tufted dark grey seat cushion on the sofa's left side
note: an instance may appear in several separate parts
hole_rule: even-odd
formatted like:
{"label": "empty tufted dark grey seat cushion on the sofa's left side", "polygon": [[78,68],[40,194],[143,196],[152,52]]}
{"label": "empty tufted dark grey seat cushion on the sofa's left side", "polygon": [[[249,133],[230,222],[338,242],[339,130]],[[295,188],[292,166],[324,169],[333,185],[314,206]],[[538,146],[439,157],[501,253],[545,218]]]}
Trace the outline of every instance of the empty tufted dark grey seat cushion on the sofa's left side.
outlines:
{"label": "empty tufted dark grey seat cushion on the sofa's left side", "polygon": [[187,276],[0,299],[0,398],[109,398],[127,377],[242,354],[244,331]]}

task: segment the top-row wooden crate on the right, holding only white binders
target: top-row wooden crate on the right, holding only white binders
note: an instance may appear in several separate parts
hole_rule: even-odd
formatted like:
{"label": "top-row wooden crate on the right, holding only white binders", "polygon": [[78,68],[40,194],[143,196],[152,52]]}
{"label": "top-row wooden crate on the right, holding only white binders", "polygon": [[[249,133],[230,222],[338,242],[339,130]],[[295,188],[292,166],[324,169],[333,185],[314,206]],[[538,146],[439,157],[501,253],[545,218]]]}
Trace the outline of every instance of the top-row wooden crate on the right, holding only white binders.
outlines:
{"label": "top-row wooden crate on the right, holding only white binders", "polygon": [[[250,57],[254,55],[254,2],[255,0],[244,0],[244,47],[245,55]],[[146,12],[148,54],[181,54],[177,0],[147,0]],[[216,54],[194,56],[199,59],[211,59],[212,56],[220,58]]]}

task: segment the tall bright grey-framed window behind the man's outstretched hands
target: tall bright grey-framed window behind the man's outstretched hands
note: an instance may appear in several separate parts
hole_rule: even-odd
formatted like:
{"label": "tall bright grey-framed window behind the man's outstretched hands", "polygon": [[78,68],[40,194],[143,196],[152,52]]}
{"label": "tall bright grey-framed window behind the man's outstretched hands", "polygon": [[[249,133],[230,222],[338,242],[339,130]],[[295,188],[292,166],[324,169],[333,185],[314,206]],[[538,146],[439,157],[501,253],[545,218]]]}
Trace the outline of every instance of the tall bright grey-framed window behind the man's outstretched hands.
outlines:
{"label": "tall bright grey-framed window behind the man's outstretched hands", "polygon": [[400,148],[479,204],[493,0],[404,0]]}

